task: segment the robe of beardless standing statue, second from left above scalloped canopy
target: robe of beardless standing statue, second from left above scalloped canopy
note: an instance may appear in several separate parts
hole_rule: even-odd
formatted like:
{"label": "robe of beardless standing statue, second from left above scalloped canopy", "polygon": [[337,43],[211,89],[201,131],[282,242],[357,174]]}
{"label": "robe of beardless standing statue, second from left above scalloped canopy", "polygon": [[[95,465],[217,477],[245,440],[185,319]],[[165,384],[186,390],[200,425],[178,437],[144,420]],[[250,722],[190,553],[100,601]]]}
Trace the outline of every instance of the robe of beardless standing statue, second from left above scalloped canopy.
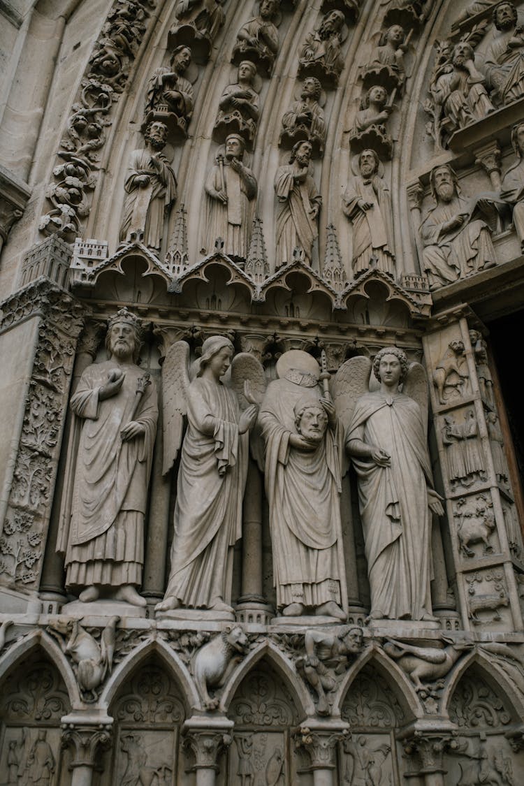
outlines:
{"label": "robe of beardless standing statue, second from left above scalloped canopy", "polygon": [[[252,222],[252,202],[257,193],[255,175],[244,167],[245,177],[241,177],[227,162],[224,166],[214,166],[207,177],[207,221],[204,248],[211,253],[214,241],[222,237],[224,252],[245,259],[249,246]],[[222,184],[222,174],[224,184]],[[227,204],[215,199],[211,194],[222,191],[228,196]]]}

